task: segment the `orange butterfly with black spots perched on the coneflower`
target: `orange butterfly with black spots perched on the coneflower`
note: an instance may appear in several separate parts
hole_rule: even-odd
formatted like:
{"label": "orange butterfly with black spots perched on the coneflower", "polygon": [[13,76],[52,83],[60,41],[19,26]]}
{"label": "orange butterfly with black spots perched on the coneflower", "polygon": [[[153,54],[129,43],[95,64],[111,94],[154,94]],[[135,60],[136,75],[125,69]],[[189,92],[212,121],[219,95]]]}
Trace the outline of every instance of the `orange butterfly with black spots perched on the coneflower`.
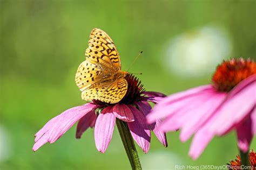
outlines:
{"label": "orange butterfly with black spots perched on the coneflower", "polygon": [[113,40],[103,30],[93,29],[89,47],[76,73],[76,84],[82,99],[118,103],[125,96],[129,72],[121,70],[120,56]]}

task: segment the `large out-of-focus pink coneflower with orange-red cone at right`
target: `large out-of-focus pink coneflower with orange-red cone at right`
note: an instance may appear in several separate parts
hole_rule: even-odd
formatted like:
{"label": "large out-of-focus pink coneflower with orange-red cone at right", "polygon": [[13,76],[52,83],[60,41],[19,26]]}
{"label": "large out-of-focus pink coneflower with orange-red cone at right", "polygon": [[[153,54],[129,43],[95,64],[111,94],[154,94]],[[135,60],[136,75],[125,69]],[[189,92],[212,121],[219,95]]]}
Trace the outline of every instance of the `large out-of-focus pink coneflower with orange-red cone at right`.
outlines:
{"label": "large out-of-focus pink coneflower with orange-red cone at right", "polygon": [[215,136],[237,131],[238,146],[247,152],[256,133],[256,64],[231,59],[217,67],[213,83],[192,88],[163,100],[147,116],[149,123],[165,118],[164,132],[180,132],[186,141],[194,133],[190,156],[197,159]]}

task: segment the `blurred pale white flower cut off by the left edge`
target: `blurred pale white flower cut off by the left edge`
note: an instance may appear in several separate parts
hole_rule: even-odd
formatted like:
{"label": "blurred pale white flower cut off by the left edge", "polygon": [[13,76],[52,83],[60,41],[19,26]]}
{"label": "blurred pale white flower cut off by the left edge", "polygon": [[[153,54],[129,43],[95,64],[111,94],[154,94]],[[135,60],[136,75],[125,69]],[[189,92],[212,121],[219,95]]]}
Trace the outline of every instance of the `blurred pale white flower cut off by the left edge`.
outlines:
{"label": "blurred pale white flower cut off by the left edge", "polygon": [[10,142],[9,137],[3,126],[0,125],[0,162],[9,158],[10,156]]}

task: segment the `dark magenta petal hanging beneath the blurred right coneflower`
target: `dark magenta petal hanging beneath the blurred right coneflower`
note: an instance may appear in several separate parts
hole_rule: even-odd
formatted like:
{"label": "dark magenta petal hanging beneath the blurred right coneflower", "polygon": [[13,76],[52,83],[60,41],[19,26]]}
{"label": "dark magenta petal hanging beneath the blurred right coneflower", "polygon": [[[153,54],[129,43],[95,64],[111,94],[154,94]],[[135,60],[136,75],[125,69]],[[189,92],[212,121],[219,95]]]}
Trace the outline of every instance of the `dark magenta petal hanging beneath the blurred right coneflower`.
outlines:
{"label": "dark magenta petal hanging beneath the blurred right coneflower", "polygon": [[244,122],[236,127],[238,137],[238,147],[241,151],[247,152],[252,141],[252,119],[251,115]]}

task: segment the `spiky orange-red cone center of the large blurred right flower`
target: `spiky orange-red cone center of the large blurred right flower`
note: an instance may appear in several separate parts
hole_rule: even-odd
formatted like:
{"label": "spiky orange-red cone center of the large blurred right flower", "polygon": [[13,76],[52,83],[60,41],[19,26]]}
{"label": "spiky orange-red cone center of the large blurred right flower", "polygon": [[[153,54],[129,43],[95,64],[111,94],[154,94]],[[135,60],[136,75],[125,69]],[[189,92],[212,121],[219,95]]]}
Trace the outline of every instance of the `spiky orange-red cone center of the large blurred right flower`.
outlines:
{"label": "spiky orange-red cone center of the large blurred right flower", "polygon": [[218,91],[230,91],[239,82],[256,74],[256,63],[250,59],[231,59],[223,61],[212,77],[214,87]]}

